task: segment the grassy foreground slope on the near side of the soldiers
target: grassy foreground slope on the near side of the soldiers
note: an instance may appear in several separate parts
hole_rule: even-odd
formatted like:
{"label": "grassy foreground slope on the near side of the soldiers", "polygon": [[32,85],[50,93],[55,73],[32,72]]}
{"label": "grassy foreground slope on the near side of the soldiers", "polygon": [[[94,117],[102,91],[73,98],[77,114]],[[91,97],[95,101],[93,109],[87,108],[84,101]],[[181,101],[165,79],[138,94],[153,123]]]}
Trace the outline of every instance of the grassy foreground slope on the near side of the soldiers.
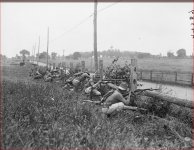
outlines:
{"label": "grassy foreground slope on the near side of the soldiers", "polygon": [[[101,107],[83,103],[81,93],[64,91],[28,77],[31,66],[3,67],[3,147],[191,149],[162,120],[140,112],[121,111],[111,117]],[[166,116],[181,137],[192,139],[192,127]]]}

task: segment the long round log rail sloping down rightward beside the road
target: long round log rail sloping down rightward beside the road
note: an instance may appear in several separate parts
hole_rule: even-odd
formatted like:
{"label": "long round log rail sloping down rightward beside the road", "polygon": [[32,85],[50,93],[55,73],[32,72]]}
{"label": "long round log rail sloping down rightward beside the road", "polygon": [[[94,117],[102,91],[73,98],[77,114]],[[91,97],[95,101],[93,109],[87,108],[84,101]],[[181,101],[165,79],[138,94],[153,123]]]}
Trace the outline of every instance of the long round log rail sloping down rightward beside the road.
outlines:
{"label": "long round log rail sloping down rightward beside the road", "polygon": [[171,96],[167,96],[167,95],[157,93],[157,92],[152,92],[152,91],[146,91],[145,95],[149,96],[149,97],[156,98],[156,99],[168,101],[170,103],[173,103],[173,104],[176,104],[176,105],[179,105],[179,106],[183,106],[183,107],[187,107],[187,108],[191,108],[191,109],[194,108],[194,106],[192,104],[192,101],[189,101],[189,100],[186,100],[186,99],[171,97]]}

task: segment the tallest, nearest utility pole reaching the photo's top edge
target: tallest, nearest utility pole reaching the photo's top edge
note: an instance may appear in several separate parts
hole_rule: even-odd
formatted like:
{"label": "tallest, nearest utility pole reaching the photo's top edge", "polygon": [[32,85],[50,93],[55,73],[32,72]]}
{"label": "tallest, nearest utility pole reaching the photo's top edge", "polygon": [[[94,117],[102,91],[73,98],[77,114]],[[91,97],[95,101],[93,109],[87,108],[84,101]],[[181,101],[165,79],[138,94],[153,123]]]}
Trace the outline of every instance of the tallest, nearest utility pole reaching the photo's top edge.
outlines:
{"label": "tallest, nearest utility pole reaching the photo's top edge", "polygon": [[94,0],[94,63],[95,63],[95,71],[98,71],[98,52],[97,52],[97,0]]}

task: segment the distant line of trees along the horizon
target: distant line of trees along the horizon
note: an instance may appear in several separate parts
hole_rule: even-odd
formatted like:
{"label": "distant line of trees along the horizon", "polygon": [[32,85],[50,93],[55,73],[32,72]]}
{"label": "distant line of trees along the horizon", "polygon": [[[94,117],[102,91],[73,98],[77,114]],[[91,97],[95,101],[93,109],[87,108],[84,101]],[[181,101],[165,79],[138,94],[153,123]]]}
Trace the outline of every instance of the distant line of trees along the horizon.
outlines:
{"label": "distant line of trees along the horizon", "polygon": [[[20,51],[20,55],[16,55],[17,59],[22,59],[23,62],[28,58],[28,59],[34,59],[34,58],[39,58],[39,59],[46,59],[47,57],[49,59],[55,60],[55,59],[74,59],[77,60],[79,58],[89,58],[93,57],[93,52],[74,52],[73,54],[70,54],[68,56],[60,56],[56,52],[51,52],[51,54],[47,54],[47,52],[41,52],[40,54],[36,54],[36,56],[30,56],[30,52],[26,49],[22,49]],[[103,56],[103,57],[136,57],[136,58],[155,58],[155,57],[162,57],[161,55],[152,55],[150,53],[146,52],[131,52],[131,51],[120,51],[119,49],[109,49],[109,50],[104,50],[104,51],[99,51],[98,56]],[[164,56],[163,56],[164,57]],[[166,56],[165,56],[166,57]],[[185,49],[179,49],[176,51],[176,56],[174,55],[173,52],[168,51],[167,52],[167,57],[169,58],[186,58],[186,50]],[[5,58],[5,56],[4,56]]]}

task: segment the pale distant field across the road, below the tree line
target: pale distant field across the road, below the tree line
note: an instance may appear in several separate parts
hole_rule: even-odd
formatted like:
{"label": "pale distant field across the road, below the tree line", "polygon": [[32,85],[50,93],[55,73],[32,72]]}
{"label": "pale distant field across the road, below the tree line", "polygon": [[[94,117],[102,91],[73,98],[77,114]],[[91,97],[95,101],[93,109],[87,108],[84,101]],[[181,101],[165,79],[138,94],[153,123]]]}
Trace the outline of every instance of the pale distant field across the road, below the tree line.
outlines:
{"label": "pale distant field across the road, below the tree line", "polygon": [[[126,62],[129,64],[131,58],[119,58],[118,64],[124,65]],[[86,67],[89,70],[94,71],[94,61],[91,58],[79,59],[79,60],[49,60],[50,63],[61,63],[66,62],[69,66],[70,62],[80,63],[82,60],[86,62]],[[103,58],[104,68],[109,66],[114,58]],[[46,60],[41,60],[46,62]],[[170,58],[147,58],[147,59],[137,59],[138,69],[145,70],[166,70],[166,71],[188,71],[193,72],[193,60],[192,59],[170,59]]]}

